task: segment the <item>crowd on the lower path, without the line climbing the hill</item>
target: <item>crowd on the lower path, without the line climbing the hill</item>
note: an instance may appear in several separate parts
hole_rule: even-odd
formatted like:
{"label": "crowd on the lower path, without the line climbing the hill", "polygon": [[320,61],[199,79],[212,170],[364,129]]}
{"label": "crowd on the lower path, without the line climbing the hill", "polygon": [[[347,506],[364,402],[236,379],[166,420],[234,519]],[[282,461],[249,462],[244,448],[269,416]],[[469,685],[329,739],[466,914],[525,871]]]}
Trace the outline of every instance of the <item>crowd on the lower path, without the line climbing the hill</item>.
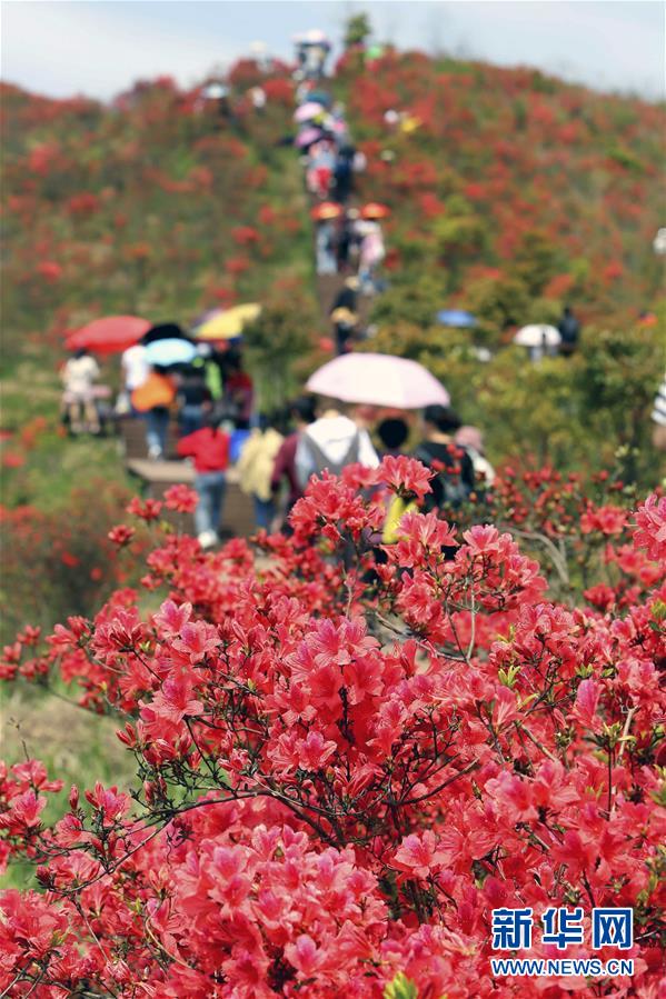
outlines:
{"label": "crowd on the lower path, without the line climbing the hill", "polygon": [[[150,340],[159,329],[153,327],[143,339]],[[169,332],[175,332],[172,324]],[[219,540],[232,464],[241,491],[252,503],[256,528],[286,532],[291,508],[310,477],[325,469],[339,474],[357,462],[376,468],[385,454],[411,454],[437,470],[431,503],[447,510],[493,481],[480,432],[463,427],[448,407],[426,407],[419,422],[414,413],[400,410],[348,407],[302,396],[284,412],[255,416],[252,382],[239,351],[207,351],[192,363],[169,368],[150,364],[147,352],[147,344],[139,342],[122,353],[117,409],[145,420],[149,458],[178,457],[193,466],[199,497],[195,526],[203,548]],[[63,369],[64,398],[77,408],[76,420],[87,418],[92,432],[99,430],[99,420],[92,416],[99,374],[99,364],[83,349]],[[173,422],[178,437],[170,456],[168,434]],[[385,540],[391,540],[390,530]]]}

